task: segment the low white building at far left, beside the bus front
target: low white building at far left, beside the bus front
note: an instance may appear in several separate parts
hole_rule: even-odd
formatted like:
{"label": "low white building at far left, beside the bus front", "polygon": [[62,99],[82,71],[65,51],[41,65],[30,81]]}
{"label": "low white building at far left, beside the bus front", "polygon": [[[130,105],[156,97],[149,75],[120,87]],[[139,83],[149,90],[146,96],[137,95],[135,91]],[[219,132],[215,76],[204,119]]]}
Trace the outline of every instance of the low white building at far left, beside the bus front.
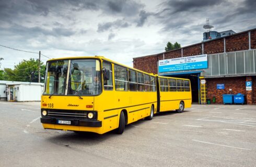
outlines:
{"label": "low white building at far left, beside the bus front", "polygon": [[0,100],[40,101],[43,85],[36,82],[18,82],[0,80]]}

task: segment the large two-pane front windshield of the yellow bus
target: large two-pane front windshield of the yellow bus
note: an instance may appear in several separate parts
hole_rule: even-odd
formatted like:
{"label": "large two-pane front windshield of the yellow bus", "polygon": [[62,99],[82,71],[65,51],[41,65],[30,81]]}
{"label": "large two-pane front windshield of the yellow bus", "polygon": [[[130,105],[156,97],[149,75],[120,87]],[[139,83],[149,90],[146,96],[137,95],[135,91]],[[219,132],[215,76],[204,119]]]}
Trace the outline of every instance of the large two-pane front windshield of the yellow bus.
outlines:
{"label": "large two-pane front windshield of the yellow bus", "polygon": [[95,96],[101,92],[100,62],[97,59],[71,59],[69,71],[68,60],[48,62],[44,94]]}

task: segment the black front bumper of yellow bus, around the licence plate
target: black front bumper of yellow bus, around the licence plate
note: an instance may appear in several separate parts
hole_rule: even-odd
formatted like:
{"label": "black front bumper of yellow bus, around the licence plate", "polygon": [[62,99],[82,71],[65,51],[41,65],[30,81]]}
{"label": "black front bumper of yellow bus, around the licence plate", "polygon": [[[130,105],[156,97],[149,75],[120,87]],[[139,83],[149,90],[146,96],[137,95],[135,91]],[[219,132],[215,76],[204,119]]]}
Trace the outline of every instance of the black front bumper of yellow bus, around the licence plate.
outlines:
{"label": "black front bumper of yellow bus, around the licence plate", "polygon": [[[71,121],[71,124],[59,124],[58,120]],[[43,124],[55,124],[55,125],[72,125],[72,126],[86,126],[86,127],[101,127],[101,121],[92,120],[67,120],[67,119],[56,119],[56,118],[43,118],[41,117],[41,123]]]}

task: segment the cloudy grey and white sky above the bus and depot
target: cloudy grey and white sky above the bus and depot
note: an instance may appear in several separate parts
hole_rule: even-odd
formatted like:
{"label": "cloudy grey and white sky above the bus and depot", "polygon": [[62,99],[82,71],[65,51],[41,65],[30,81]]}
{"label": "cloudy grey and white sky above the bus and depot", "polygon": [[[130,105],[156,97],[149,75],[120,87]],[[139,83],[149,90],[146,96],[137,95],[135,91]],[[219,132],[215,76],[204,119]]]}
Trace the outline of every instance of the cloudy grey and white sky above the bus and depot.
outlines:
{"label": "cloudy grey and white sky above the bus and depot", "polygon": [[[201,42],[206,18],[215,31],[256,28],[255,6],[255,0],[0,0],[0,45],[50,58],[103,55],[133,66],[133,57],[164,52],[168,41]],[[0,57],[3,69],[38,54],[0,46]]]}

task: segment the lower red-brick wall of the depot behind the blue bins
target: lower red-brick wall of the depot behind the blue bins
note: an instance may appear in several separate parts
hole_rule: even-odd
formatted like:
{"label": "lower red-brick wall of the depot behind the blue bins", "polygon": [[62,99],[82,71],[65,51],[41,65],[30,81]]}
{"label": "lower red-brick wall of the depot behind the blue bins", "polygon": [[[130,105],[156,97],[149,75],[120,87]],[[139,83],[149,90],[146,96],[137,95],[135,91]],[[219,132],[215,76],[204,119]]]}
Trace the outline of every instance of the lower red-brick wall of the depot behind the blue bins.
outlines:
{"label": "lower red-brick wall of the depot behind the blue bins", "polygon": [[[232,77],[232,78],[207,78],[206,79],[207,98],[216,98],[216,103],[223,104],[223,94],[245,94],[246,101],[246,77]],[[225,89],[217,89],[217,84],[225,84]],[[232,89],[229,91],[229,89]]]}

